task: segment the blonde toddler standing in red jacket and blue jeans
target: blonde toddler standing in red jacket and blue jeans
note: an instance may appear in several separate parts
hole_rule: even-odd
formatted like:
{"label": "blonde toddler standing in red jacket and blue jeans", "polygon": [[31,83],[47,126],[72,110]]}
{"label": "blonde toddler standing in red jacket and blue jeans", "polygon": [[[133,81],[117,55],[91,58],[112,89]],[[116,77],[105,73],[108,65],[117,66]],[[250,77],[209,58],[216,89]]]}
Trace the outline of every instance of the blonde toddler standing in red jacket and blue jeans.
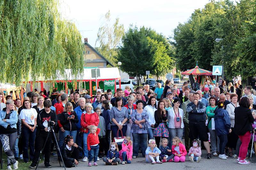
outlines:
{"label": "blonde toddler standing in red jacket and blue jeans", "polygon": [[93,166],[98,166],[97,164],[97,158],[99,154],[99,133],[100,128],[97,128],[97,126],[92,125],[90,129],[90,134],[87,137],[87,149],[90,151],[89,156],[89,162],[88,166],[92,166],[92,158],[94,160]]}

